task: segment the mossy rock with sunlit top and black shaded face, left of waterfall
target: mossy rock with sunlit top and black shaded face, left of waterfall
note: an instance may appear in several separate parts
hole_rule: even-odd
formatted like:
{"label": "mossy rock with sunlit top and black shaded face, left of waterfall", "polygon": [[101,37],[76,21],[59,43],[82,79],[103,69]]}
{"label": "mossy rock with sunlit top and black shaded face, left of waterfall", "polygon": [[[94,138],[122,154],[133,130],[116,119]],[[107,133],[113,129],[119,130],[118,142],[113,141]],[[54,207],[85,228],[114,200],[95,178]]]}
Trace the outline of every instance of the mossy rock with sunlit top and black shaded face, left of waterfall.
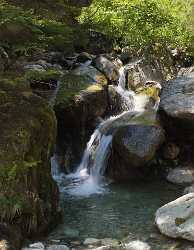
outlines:
{"label": "mossy rock with sunlit top and black shaded face, left of waterfall", "polygon": [[57,153],[63,156],[60,165],[66,172],[81,160],[86,142],[107,105],[106,79],[100,72],[89,67],[64,76],[54,109],[58,120]]}

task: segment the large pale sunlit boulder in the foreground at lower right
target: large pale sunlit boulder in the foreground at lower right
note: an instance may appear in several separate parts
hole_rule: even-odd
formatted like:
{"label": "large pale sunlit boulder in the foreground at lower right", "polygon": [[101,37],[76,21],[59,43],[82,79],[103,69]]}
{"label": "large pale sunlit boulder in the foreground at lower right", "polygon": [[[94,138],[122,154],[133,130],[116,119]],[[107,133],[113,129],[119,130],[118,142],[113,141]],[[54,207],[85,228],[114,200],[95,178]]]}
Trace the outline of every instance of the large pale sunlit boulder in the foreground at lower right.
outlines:
{"label": "large pale sunlit boulder in the foreground at lower right", "polygon": [[194,193],[159,208],[155,222],[160,232],[166,236],[194,241]]}

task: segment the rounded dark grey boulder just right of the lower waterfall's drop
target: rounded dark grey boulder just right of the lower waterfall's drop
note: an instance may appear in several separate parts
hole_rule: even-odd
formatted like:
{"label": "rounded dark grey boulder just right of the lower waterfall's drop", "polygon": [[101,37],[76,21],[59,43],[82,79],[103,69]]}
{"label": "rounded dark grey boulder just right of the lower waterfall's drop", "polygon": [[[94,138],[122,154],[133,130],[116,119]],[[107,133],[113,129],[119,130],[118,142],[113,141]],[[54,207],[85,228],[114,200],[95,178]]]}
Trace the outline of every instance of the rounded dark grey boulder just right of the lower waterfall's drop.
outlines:
{"label": "rounded dark grey boulder just right of the lower waterfall's drop", "polygon": [[155,157],[165,135],[159,125],[130,124],[113,136],[108,171],[114,179],[136,179]]}

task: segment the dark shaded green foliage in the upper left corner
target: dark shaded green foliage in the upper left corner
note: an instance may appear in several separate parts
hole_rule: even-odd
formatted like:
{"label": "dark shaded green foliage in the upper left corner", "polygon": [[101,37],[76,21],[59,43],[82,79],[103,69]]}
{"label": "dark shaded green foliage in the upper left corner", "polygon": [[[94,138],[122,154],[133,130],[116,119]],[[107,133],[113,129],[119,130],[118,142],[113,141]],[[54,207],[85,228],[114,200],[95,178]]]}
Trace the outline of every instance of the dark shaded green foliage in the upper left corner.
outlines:
{"label": "dark shaded green foliage in the upper left corner", "polygon": [[0,46],[25,56],[44,50],[71,53],[76,28],[69,21],[79,14],[79,8],[67,6],[63,1],[3,0],[0,2]]}

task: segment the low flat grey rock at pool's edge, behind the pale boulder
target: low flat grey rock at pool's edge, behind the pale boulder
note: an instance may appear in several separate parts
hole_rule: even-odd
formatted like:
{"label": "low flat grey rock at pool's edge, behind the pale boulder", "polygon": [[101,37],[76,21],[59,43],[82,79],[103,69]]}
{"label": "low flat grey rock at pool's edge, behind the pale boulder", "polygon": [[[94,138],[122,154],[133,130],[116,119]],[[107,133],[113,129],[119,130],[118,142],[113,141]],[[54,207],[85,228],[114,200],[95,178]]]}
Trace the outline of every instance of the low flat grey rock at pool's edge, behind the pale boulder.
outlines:
{"label": "low flat grey rock at pool's edge, behind the pale boulder", "polygon": [[171,169],[167,175],[167,180],[174,184],[189,184],[194,182],[194,168],[177,167]]}

